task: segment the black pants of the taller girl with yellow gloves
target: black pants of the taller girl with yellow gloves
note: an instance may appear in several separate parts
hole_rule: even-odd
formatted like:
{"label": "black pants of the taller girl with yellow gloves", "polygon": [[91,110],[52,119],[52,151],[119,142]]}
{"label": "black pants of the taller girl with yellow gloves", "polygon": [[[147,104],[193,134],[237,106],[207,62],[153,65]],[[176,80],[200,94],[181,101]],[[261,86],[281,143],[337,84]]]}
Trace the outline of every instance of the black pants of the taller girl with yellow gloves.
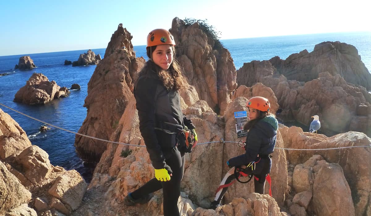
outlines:
{"label": "black pants of the taller girl with yellow gloves", "polygon": [[184,153],[180,153],[174,148],[169,153],[165,153],[165,162],[173,171],[170,181],[160,182],[156,178],[149,180],[143,186],[131,193],[135,198],[143,197],[162,188],[164,193],[164,216],[179,215],[178,198],[180,196],[180,182],[184,174]]}

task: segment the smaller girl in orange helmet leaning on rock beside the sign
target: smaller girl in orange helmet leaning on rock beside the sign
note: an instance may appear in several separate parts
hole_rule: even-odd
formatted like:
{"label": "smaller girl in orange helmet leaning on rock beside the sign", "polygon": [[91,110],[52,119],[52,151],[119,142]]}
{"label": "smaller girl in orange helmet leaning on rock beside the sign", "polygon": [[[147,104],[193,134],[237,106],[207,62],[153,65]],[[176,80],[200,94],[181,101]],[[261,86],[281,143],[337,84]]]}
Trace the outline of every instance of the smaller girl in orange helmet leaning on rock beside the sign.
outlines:
{"label": "smaller girl in orange helmet leaning on rock beside the sign", "polygon": [[270,173],[272,160],[270,154],[276,145],[278,121],[270,114],[270,103],[264,97],[252,97],[247,103],[249,122],[244,125],[246,153],[227,161],[232,169],[227,172],[216,191],[210,209],[216,209],[227,192],[228,186],[240,176],[254,175],[255,193],[264,194],[266,176]]}

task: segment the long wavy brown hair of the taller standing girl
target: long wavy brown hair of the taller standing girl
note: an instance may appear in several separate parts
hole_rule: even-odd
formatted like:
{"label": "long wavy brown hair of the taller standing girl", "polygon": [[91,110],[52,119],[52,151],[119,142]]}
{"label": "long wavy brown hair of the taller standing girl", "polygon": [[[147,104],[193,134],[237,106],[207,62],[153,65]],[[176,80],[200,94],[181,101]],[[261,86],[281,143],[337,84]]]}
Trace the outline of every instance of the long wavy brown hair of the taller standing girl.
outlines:
{"label": "long wavy brown hair of the taller standing girl", "polygon": [[[175,48],[173,47],[173,62],[170,64],[170,67],[167,70],[163,70],[160,66],[155,64],[152,60],[152,53],[155,51],[157,46],[147,47],[147,56],[150,60],[147,61],[142,71],[148,71],[147,67],[154,70],[157,73],[159,80],[165,86],[167,90],[180,90],[185,87],[185,80],[181,73],[181,67],[179,66],[178,61],[175,59]],[[152,51],[152,53],[151,53]],[[142,74],[142,73],[141,73]],[[139,75],[141,76],[141,75]]]}

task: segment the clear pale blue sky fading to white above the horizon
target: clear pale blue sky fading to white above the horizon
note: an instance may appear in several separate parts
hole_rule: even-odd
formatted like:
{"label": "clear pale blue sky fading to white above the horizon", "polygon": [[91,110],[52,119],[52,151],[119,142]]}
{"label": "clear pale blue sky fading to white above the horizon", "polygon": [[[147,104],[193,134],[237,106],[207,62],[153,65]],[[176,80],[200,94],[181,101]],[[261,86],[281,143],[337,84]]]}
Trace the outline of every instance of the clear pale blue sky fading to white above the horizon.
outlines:
{"label": "clear pale blue sky fading to white above the horizon", "polygon": [[0,56],[105,48],[119,23],[144,45],[174,17],[207,19],[221,39],[371,31],[368,1],[0,1]]}

